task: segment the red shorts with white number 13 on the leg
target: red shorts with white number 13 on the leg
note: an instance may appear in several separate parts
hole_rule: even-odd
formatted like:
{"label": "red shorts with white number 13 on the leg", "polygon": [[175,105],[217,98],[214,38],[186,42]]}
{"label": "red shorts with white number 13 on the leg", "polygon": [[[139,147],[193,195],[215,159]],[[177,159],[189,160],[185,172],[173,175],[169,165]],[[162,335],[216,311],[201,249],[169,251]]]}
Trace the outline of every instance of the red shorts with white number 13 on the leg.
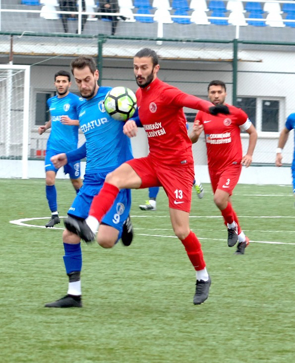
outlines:
{"label": "red shorts with white number 13 on the leg", "polygon": [[190,212],[191,188],[194,180],[193,163],[164,165],[150,156],[126,162],[141,179],[140,188],[163,186],[169,207]]}

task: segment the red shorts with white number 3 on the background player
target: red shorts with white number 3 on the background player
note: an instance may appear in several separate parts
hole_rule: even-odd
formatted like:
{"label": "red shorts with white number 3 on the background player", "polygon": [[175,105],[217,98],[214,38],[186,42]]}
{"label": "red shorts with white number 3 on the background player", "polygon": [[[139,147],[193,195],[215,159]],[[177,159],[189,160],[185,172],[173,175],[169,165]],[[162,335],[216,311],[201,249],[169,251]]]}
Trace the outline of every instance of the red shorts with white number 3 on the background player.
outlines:
{"label": "red shorts with white number 3 on the background player", "polygon": [[210,170],[209,168],[213,192],[215,193],[216,189],[221,189],[232,195],[241,169],[241,164],[233,164],[223,170]]}

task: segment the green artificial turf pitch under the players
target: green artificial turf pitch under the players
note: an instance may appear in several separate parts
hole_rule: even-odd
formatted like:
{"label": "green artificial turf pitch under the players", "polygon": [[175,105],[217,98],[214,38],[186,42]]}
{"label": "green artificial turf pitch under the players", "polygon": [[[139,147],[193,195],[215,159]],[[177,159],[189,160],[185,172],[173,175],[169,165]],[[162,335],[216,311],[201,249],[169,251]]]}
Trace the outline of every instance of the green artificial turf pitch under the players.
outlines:
{"label": "green artificial turf pitch under the players", "polygon": [[[132,244],[105,250],[82,242],[83,308],[57,309],[44,303],[67,291],[63,224],[42,229],[9,223],[50,217],[45,182],[0,180],[0,362],[293,362],[291,186],[237,185],[234,208],[253,241],[244,255],[227,246],[210,185],[204,187],[203,199],[193,191],[190,226],[212,277],[205,303],[192,303],[195,272],[174,238],[164,191],[157,211],[141,211],[147,190],[134,190]],[[65,216],[75,193],[67,180],[58,180],[57,190],[59,214]]]}

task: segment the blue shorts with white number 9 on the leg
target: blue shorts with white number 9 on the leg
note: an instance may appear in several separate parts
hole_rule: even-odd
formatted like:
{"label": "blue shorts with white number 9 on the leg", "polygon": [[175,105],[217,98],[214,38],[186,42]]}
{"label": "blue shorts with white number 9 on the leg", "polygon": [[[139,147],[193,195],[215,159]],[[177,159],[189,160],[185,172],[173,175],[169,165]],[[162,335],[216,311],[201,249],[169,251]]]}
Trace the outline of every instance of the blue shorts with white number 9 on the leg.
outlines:
{"label": "blue shorts with white number 9 on the leg", "polygon": [[[83,186],[74,199],[67,214],[79,218],[87,218],[93,197],[99,193],[109,172],[85,174]],[[131,190],[121,189],[112,208],[102,219],[102,223],[116,228],[121,237],[122,226],[129,215],[131,207]]]}

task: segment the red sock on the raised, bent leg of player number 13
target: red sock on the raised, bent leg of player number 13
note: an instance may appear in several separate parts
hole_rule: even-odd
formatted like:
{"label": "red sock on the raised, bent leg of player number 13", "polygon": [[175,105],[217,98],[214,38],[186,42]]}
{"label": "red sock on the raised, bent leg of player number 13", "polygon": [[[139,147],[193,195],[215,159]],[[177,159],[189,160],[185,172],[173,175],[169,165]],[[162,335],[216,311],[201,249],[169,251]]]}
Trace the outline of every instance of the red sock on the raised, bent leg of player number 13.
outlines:
{"label": "red sock on the raised, bent leg of player number 13", "polygon": [[105,182],[100,192],[92,200],[89,215],[100,222],[114,204],[118,192],[117,186]]}

